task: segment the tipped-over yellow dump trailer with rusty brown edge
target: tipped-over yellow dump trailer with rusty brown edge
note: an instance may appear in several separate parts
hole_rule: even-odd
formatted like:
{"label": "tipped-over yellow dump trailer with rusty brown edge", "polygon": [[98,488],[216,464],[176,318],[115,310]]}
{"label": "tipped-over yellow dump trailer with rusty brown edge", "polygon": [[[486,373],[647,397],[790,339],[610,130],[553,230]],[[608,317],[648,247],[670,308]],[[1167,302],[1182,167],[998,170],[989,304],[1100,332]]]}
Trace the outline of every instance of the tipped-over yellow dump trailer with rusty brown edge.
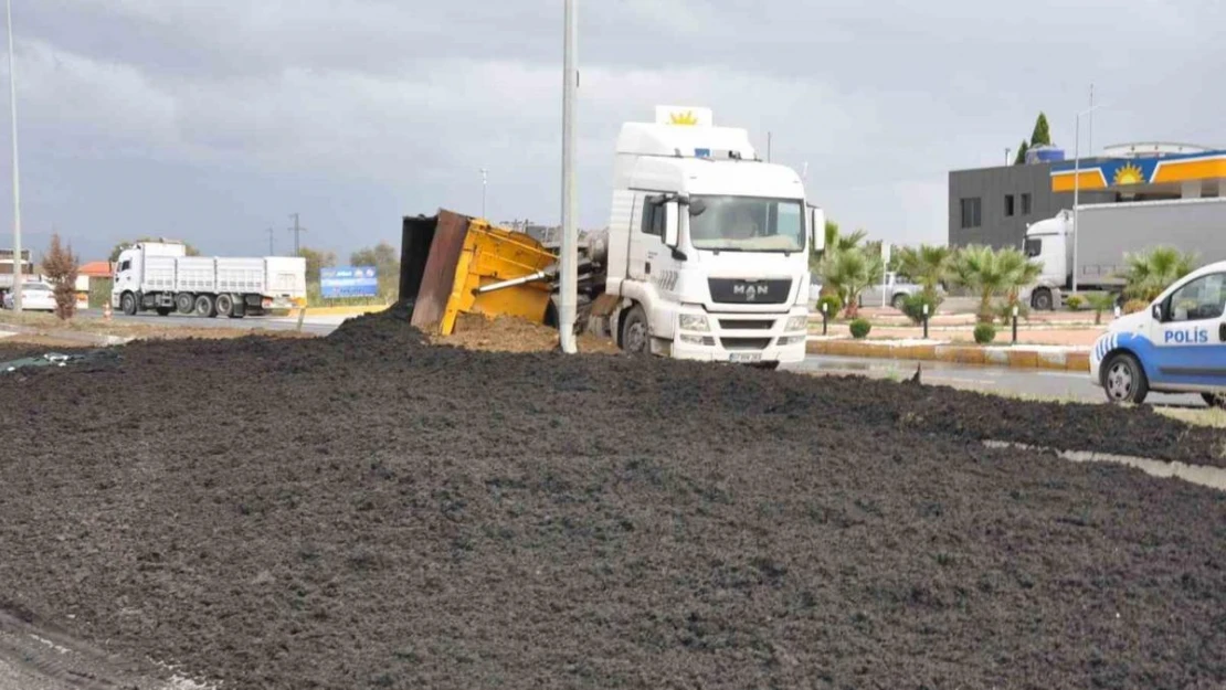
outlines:
{"label": "tipped-over yellow dump trailer with rusty brown edge", "polygon": [[451,335],[460,314],[519,316],[542,324],[557,256],[525,233],[440,210],[405,218],[401,301],[422,331]]}

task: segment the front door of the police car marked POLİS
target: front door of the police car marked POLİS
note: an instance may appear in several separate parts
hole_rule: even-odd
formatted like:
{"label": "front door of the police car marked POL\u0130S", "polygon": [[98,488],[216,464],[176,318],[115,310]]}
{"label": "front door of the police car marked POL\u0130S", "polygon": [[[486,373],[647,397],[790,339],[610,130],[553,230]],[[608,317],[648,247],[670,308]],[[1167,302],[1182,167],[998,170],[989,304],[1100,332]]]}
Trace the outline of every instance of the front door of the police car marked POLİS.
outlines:
{"label": "front door of the police car marked POL\u0130S", "polygon": [[1154,362],[1146,373],[1182,386],[1226,387],[1226,272],[1208,273],[1161,303],[1151,324]]}

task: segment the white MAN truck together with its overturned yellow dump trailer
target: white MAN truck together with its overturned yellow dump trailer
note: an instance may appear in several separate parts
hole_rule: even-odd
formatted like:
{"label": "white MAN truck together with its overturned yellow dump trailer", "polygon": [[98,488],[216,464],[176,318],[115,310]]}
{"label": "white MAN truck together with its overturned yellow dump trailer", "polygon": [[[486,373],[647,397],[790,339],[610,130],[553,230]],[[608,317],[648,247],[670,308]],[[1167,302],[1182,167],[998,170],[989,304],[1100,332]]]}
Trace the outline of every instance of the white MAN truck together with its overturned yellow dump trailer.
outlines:
{"label": "white MAN truck together with its overturned yellow dump trailer", "polygon": [[[701,108],[622,126],[609,226],[580,257],[579,326],[628,352],[775,368],[804,358],[809,251],[825,217],[786,165]],[[557,257],[447,211],[405,218],[401,300],[449,333],[459,313],[555,322]],[[504,292],[505,290],[505,292]]]}

